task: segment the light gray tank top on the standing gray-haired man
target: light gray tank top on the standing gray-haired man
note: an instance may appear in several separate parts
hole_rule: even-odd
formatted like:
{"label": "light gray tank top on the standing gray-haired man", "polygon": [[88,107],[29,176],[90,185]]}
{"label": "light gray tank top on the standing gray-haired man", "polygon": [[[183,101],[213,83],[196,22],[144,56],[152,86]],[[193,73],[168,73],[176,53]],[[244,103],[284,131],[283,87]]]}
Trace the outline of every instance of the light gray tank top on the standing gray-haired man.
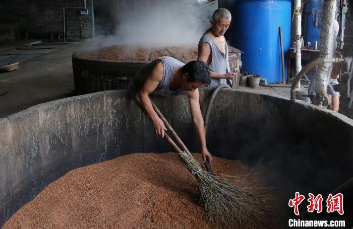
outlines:
{"label": "light gray tank top on the standing gray-haired man", "polygon": [[[223,37],[224,38],[224,37]],[[212,61],[210,64],[210,70],[219,74],[225,74],[230,71],[228,61],[228,45],[225,42],[225,53],[221,52],[213,40],[204,33],[199,41],[198,52],[200,53],[201,45],[203,43],[209,43],[212,49]],[[211,79],[210,87],[214,88],[220,84],[226,84],[225,79]]]}

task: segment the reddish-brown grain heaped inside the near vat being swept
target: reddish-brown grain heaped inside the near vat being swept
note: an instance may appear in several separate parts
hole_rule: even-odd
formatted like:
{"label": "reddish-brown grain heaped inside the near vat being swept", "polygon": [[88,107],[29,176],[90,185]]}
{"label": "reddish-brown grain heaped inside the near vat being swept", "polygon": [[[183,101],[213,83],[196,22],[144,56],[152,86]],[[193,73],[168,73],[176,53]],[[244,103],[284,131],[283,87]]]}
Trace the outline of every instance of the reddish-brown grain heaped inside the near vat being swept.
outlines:
{"label": "reddish-brown grain heaped inside the near vat being swept", "polygon": [[[240,161],[214,157],[214,170],[242,185],[258,178]],[[132,154],[69,172],[3,228],[209,228],[198,202],[177,154]]]}

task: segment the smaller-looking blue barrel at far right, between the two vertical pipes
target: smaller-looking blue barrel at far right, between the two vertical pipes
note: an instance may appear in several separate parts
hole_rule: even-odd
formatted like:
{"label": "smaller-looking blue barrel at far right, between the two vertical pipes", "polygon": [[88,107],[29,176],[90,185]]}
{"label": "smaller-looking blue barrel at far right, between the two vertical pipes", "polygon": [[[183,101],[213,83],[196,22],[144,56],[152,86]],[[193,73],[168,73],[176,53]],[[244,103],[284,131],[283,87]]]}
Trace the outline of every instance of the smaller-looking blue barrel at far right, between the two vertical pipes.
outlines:
{"label": "smaller-looking blue barrel at far right, between the two vertical pipes", "polygon": [[[312,47],[314,47],[314,42],[318,41],[318,47],[320,47],[320,34],[321,34],[321,27],[315,27],[315,20],[320,21],[320,17],[315,17],[313,20],[313,9],[320,14],[323,8],[323,1],[322,0],[310,0],[308,3],[305,4],[304,11],[303,11],[303,35],[306,34],[305,40],[310,41]],[[320,21],[321,22],[321,21]],[[319,22],[318,22],[319,23]]]}

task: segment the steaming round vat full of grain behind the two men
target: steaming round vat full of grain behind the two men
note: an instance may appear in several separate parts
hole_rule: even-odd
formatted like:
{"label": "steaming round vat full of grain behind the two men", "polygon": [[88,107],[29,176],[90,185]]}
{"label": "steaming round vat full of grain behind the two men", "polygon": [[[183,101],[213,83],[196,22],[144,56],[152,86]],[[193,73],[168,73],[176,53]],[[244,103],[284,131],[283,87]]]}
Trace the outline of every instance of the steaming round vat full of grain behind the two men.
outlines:
{"label": "steaming round vat full of grain behind the two men", "polygon": [[[110,46],[72,55],[75,92],[79,95],[113,89],[128,89],[138,69],[160,56],[171,56],[184,63],[197,59],[197,47],[146,48]],[[241,51],[229,47],[230,69],[239,72]]]}

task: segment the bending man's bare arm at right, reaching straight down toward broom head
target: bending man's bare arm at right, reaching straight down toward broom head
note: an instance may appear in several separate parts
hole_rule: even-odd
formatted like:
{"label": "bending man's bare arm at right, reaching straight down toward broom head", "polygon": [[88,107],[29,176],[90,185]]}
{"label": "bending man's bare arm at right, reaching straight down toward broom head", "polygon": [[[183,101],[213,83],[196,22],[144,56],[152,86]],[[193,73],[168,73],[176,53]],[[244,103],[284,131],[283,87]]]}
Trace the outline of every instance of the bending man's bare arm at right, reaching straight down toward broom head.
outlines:
{"label": "bending man's bare arm at right, reaching straight down toward broom head", "polygon": [[193,118],[194,127],[198,135],[199,141],[202,148],[202,159],[203,162],[208,159],[210,165],[212,164],[212,156],[206,146],[206,132],[203,117],[201,114],[200,101],[199,101],[199,90],[196,89],[188,94],[191,116]]}

